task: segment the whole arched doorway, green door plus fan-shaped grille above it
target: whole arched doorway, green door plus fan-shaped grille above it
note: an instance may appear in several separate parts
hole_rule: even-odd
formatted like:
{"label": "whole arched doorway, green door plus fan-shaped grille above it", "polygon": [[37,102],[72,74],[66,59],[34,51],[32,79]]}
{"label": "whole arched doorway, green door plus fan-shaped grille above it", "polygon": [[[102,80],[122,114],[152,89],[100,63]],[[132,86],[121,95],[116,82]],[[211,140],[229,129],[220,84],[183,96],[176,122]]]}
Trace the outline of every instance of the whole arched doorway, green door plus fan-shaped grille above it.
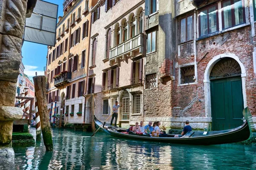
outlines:
{"label": "whole arched doorway, green door plus fan-shaped grille above it", "polygon": [[230,57],[221,58],[210,75],[212,130],[240,126],[244,109],[241,67]]}

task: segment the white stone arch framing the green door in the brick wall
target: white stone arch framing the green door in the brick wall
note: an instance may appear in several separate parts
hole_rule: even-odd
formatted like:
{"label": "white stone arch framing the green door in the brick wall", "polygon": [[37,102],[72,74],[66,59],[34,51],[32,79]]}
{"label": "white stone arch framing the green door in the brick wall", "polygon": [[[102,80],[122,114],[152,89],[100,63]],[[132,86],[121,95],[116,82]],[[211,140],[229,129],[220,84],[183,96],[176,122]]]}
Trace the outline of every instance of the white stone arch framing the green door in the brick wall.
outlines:
{"label": "white stone arch framing the green door in the brick wall", "polygon": [[215,57],[213,57],[207,64],[207,67],[204,72],[204,101],[205,101],[205,115],[206,117],[212,117],[212,108],[211,108],[211,89],[210,89],[210,73],[212,71],[212,68],[214,65],[222,58],[233,58],[236,60],[236,62],[239,63],[241,67],[241,80],[242,80],[242,93],[243,93],[243,100],[244,100],[244,108],[247,107],[247,100],[246,100],[246,89],[245,89],[245,78],[246,78],[246,71],[244,68],[244,65],[240,61],[239,57],[237,57],[235,54],[231,53],[224,53],[219,54]]}

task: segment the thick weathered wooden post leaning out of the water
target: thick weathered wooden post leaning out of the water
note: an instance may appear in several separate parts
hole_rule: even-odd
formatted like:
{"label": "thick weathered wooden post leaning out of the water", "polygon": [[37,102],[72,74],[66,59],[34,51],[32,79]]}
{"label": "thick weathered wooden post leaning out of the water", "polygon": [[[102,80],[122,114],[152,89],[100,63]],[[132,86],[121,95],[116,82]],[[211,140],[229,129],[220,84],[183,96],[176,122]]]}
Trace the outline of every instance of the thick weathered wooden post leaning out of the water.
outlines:
{"label": "thick weathered wooden post leaning out of the water", "polygon": [[41,131],[43,134],[44,145],[46,150],[53,150],[52,132],[49,122],[46,98],[46,78],[45,76],[33,77],[35,86],[35,96],[38,103],[38,113],[41,120]]}

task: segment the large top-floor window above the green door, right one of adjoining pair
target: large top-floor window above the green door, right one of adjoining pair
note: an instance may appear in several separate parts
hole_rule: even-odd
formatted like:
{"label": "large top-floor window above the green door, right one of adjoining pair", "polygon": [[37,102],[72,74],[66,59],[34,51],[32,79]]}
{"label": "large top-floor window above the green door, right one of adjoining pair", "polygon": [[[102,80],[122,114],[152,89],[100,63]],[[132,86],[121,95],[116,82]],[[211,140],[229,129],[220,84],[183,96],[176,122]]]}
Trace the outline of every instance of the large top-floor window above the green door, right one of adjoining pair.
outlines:
{"label": "large top-floor window above the green door, right one of adjoining pair", "polygon": [[242,0],[225,0],[221,2],[223,29],[245,23],[243,3]]}

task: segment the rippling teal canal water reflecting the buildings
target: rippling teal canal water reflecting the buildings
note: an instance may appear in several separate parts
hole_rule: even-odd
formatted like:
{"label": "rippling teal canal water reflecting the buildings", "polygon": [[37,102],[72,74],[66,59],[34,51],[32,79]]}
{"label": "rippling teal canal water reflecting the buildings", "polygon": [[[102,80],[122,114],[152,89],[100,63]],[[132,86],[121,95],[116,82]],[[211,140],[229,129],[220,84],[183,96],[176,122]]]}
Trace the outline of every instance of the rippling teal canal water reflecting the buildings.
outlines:
{"label": "rippling teal canal water reflecting the buildings", "polygon": [[[35,128],[30,132],[35,137]],[[256,147],[241,144],[190,146],[113,138],[52,129],[53,152],[43,139],[14,147],[16,170],[256,169]],[[237,136],[239,137],[239,136]]]}

